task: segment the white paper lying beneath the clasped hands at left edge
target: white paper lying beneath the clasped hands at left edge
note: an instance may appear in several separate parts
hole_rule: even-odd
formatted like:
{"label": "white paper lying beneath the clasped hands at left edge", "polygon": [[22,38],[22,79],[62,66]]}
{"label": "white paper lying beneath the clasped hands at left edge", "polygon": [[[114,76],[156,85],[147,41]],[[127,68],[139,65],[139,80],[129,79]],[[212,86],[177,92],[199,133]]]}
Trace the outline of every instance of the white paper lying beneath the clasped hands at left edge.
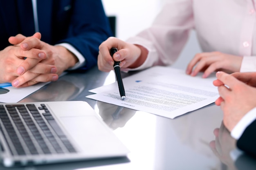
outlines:
{"label": "white paper lying beneath the clasped hands at left edge", "polygon": [[5,94],[0,94],[0,102],[3,102],[3,103],[19,102],[21,99],[25,98],[31,93],[34,93],[35,91],[37,91],[38,89],[40,89],[41,87],[45,86],[45,84],[48,84],[48,83],[49,82],[38,83],[33,86],[21,87],[21,88],[16,88],[13,86],[3,87],[4,89],[7,89],[9,92]]}

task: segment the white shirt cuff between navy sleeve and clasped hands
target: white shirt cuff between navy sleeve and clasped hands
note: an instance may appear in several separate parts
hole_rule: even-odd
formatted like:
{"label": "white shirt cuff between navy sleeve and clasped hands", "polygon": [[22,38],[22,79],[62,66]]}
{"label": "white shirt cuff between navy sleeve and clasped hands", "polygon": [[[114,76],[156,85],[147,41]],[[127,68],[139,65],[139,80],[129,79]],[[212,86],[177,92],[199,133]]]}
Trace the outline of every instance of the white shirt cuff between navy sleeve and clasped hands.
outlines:
{"label": "white shirt cuff between navy sleeve and clasped hands", "polygon": [[78,62],[72,67],[69,68],[68,70],[75,70],[76,68],[79,68],[81,66],[85,65],[85,58],[83,57],[83,55],[81,53],[79,53],[79,51],[77,51],[74,46],[68,44],[68,43],[61,43],[61,44],[56,44],[55,46],[63,46],[66,49],[68,49],[70,52],[72,52],[77,58],[78,58]]}

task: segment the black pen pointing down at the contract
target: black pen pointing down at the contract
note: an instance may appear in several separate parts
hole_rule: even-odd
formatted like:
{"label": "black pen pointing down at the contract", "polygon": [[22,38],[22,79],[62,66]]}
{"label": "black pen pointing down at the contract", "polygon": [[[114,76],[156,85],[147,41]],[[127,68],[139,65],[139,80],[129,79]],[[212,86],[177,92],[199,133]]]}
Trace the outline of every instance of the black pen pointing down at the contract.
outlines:
{"label": "black pen pointing down at the contract", "polygon": [[[113,57],[115,52],[117,52],[117,48],[110,49],[111,57]],[[124,100],[125,99],[125,91],[124,91],[124,84],[123,84],[123,80],[122,80],[121,72],[120,72],[120,62],[116,62],[115,60],[114,60],[114,70],[115,70],[115,74],[117,77],[119,93],[120,93],[121,99]]]}

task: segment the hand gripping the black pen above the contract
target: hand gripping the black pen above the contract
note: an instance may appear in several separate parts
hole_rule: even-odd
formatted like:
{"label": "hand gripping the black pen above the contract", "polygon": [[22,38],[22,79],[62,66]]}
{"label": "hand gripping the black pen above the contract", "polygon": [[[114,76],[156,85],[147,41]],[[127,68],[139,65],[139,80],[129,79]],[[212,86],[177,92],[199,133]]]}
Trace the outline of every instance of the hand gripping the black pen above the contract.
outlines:
{"label": "hand gripping the black pen above the contract", "polygon": [[[111,57],[109,51],[115,46],[118,52]],[[100,71],[109,72],[113,70],[114,61],[121,62],[121,68],[136,68],[144,63],[148,51],[140,45],[134,45],[115,37],[101,43],[99,46],[98,67]]]}

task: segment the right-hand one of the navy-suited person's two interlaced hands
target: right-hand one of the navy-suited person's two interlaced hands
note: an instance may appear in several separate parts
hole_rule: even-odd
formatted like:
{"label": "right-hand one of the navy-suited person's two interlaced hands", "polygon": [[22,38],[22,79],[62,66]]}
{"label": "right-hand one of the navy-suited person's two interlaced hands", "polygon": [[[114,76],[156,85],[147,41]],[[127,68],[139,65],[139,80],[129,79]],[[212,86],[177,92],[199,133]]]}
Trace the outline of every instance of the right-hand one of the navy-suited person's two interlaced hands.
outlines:
{"label": "right-hand one of the navy-suited person's two interlaced hands", "polygon": [[[38,33],[40,34],[40,33]],[[20,43],[18,38],[13,38],[13,43]],[[17,72],[22,76],[18,77],[15,81],[16,87],[31,86],[38,82],[56,81],[58,75],[63,71],[74,66],[78,59],[74,54],[65,49],[63,46],[52,46],[36,37],[25,39],[20,44],[23,51],[30,51],[31,49],[40,49],[46,53],[44,60],[24,60],[17,68]],[[51,72],[43,73],[43,69],[51,66]],[[32,73],[31,73],[32,72]],[[57,73],[53,74],[53,73]]]}

